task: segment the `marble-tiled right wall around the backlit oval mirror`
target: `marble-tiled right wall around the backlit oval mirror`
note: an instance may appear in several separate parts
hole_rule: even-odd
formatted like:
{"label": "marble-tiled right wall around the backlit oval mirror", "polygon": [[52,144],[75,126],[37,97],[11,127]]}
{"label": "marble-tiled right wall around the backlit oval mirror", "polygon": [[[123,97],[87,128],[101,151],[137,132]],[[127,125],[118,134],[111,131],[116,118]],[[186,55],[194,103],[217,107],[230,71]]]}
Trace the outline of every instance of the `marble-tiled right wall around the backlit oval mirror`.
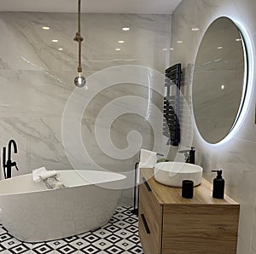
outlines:
{"label": "marble-tiled right wall around the backlit oval mirror", "polygon": [[[171,63],[182,62],[188,69],[193,65],[203,33],[212,20],[219,16],[228,16],[238,21],[247,29],[253,44],[256,44],[256,2],[254,0],[190,0],[183,1],[172,16]],[[199,31],[191,31],[199,27]],[[182,40],[183,43],[177,43]],[[254,47],[254,51],[256,48]],[[254,70],[255,71],[255,70]],[[189,76],[187,74],[187,76]],[[255,74],[253,73],[253,85]],[[189,80],[189,79],[187,79]],[[191,99],[191,81],[183,86],[184,96]],[[204,176],[212,181],[215,176],[211,170],[218,166],[224,170],[226,192],[241,204],[239,225],[238,254],[256,253],[256,125],[254,124],[255,89],[247,111],[246,118],[230,141],[212,147],[202,141],[195,128],[193,145],[196,147],[196,164],[204,168]],[[185,142],[185,141],[184,141]]]}

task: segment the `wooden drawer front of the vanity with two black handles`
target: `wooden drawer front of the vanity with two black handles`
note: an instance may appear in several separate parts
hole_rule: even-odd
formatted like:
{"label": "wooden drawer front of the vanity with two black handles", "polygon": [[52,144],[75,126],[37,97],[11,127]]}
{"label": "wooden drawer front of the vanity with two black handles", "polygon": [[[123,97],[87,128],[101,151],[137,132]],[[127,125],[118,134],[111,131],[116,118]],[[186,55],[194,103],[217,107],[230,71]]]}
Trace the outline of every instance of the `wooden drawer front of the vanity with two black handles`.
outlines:
{"label": "wooden drawer front of the vanity with two black handles", "polygon": [[145,254],[161,253],[162,205],[159,205],[148,182],[139,187],[139,235]]}

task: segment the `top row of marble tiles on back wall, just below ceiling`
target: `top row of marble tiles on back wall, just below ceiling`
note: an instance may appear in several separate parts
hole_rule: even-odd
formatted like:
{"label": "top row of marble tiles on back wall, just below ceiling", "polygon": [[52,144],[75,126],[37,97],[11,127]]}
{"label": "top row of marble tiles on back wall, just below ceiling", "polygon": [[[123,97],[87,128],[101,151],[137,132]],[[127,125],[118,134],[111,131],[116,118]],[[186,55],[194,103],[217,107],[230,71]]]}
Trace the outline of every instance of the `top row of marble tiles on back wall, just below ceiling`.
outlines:
{"label": "top row of marble tiles on back wall, just below ceiling", "polygon": [[[40,15],[39,15],[40,16]],[[13,14],[9,20],[2,16],[0,28],[0,63],[2,68],[75,70],[78,45],[73,41],[77,31],[76,14],[67,15],[67,20],[58,20],[55,14],[44,20],[27,14]],[[142,64],[160,71],[165,69],[165,55],[161,52],[170,44],[170,15],[135,14],[82,14],[82,58],[84,70],[101,70],[119,64]],[[131,31],[123,32],[124,26]],[[42,30],[49,26],[50,30]],[[59,43],[51,42],[58,39]],[[125,43],[119,44],[119,40]],[[58,48],[62,48],[59,51]],[[116,48],[121,48],[116,51]]]}

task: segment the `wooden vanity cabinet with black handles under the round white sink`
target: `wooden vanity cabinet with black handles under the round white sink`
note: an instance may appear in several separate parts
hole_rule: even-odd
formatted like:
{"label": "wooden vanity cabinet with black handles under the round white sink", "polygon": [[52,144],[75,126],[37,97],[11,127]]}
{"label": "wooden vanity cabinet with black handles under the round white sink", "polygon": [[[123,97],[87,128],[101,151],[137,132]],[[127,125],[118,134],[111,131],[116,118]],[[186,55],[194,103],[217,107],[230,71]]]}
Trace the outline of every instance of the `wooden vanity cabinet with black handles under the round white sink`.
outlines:
{"label": "wooden vanity cabinet with black handles under the round white sink", "polygon": [[[144,254],[236,254],[240,205],[225,195],[212,198],[212,184],[203,179],[193,199],[181,188],[154,180],[141,170],[139,236]],[[146,180],[148,179],[148,181]]]}

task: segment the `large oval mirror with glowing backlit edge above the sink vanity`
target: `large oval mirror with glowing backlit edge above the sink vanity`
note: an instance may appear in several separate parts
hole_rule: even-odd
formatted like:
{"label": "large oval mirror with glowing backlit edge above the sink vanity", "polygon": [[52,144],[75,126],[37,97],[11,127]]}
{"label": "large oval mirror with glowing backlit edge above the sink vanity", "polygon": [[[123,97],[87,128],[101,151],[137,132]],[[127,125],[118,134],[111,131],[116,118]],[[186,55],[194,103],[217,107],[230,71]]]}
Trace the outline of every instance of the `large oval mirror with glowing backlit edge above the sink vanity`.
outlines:
{"label": "large oval mirror with glowing backlit edge above the sink vanity", "polygon": [[246,48],[236,24],[214,20],[198,49],[192,84],[195,124],[203,139],[216,144],[241,112],[247,86]]}

